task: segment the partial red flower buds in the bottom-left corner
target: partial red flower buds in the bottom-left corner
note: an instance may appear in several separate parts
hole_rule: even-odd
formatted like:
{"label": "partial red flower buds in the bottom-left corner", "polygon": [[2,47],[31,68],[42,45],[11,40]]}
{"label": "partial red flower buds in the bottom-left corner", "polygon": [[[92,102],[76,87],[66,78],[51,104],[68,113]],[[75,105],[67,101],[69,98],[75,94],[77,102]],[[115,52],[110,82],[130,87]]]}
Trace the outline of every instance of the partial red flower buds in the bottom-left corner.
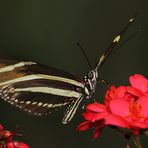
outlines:
{"label": "partial red flower buds in the bottom-left corner", "polygon": [[29,148],[27,144],[13,140],[14,135],[20,136],[16,132],[6,130],[0,125],[0,148]]}

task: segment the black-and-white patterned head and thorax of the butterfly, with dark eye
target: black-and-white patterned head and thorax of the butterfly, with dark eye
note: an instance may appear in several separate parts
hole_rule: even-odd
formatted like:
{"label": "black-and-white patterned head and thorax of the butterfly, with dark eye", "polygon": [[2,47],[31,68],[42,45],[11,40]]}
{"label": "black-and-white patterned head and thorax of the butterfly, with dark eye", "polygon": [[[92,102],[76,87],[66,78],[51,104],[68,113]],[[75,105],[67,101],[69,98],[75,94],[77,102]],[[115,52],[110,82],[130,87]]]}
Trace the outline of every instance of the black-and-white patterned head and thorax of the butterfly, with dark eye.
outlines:
{"label": "black-and-white patterned head and thorax of the butterfly, with dark eye", "polygon": [[84,82],[85,82],[85,87],[88,89],[89,93],[87,95],[87,98],[90,98],[91,95],[94,93],[95,88],[96,88],[96,83],[97,83],[97,78],[98,78],[98,72],[95,70],[91,70],[85,77],[84,77]]}

